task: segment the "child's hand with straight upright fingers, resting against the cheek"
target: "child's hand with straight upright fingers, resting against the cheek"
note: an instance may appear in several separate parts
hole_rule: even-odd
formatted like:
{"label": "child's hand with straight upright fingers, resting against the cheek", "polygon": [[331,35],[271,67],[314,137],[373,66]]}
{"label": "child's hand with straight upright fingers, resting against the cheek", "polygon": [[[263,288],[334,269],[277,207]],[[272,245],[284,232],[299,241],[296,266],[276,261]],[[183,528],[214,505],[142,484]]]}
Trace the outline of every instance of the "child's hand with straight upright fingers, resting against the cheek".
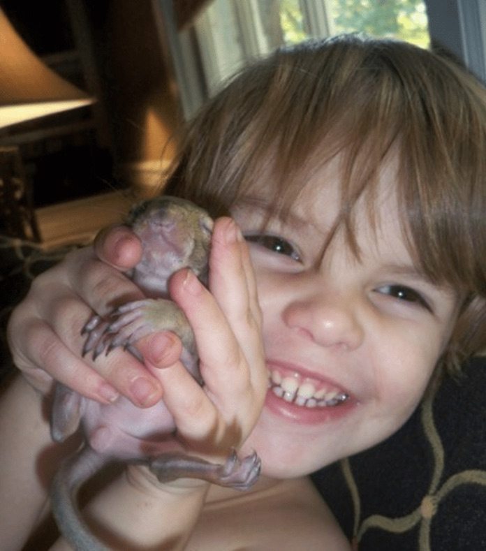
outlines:
{"label": "child's hand with straight upright fingers, resting against the cheek", "polygon": [[[253,429],[267,391],[256,281],[246,242],[235,223],[214,226],[209,290],[189,270],[170,280],[170,295],[184,310],[200,357],[201,388],[181,362],[151,369],[191,450],[226,456]],[[146,363],[147,356],[146,356]]]}

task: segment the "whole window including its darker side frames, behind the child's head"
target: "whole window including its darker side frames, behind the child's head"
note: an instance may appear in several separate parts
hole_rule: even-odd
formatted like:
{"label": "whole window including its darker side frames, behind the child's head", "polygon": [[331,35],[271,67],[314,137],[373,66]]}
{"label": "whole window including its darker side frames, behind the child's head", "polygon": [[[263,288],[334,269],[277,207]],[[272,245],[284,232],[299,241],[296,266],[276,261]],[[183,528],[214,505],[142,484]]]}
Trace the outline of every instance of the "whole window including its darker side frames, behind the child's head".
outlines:
{"label": "whole window including its darker side frames, behind the child's head", "polygon": [[486,0],[212,0],[193,28],[169,33],[184,112],[280,45],[351,31],[421,47],[432,37],[486,80]]}

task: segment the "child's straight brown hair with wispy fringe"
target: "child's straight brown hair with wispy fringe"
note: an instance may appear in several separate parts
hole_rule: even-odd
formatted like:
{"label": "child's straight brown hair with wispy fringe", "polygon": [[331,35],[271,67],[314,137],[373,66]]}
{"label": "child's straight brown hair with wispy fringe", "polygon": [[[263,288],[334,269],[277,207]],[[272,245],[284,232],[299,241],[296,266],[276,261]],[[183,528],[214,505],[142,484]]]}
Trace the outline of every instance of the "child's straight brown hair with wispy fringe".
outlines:
{"label": "child's straight brown hair with wispy fringe", "polygon": [[230,210],[272,174],[283,214],[314,170],[342,158],[337,225],[356,251],[353,207],[370,212],[397,154],[404,235],[422,270],[464,303],[442,362],[486,345],[486,91],[450,59],[356,35],[283,48],[238,75],[189,124],[166,191]]}

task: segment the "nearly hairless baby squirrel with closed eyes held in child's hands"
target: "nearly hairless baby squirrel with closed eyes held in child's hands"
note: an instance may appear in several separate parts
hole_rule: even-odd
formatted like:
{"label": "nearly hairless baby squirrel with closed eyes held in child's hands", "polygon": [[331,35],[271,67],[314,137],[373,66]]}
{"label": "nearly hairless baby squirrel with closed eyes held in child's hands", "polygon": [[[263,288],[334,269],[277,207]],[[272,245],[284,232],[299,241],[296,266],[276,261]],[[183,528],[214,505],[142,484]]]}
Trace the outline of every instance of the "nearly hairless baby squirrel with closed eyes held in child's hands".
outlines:
{"label": "nearly hairless baby squirrel with closed eyes held in child's hands", "polygon": [[[130,274],[146,299],[128,302],[110,319],[93,316],[84,327],[84,353],[109,353],[124,346],[140,357],[135,342],[159,330],[175,332],[182,341],[182,362],[191,375],[203,383],[193,332],[182,310],[168,297],[170,275],[189,267],[200,280],[207,279],[207,259],[213,221],[209,214],[189,201],[161,196],[135,205],[128,224],[142,242],[142,258]],[[231,453],[226,463],[212,464],[183,453],[168,453],[168,435],[175,424],[163,402],[140,409],[128,399],[100,404],[57,383],[51,415],[52,439],[64,441],[82,427],[82,448],[61,465],[51,487],[52,510],[61,533],[78,551],[106,548],[83,522],[76,494],[82,483],[112,461],[147,464],[161,481],[201,478],[211,483],[249,488],[258,478],[260,460],[256,454],[240,460]]]}

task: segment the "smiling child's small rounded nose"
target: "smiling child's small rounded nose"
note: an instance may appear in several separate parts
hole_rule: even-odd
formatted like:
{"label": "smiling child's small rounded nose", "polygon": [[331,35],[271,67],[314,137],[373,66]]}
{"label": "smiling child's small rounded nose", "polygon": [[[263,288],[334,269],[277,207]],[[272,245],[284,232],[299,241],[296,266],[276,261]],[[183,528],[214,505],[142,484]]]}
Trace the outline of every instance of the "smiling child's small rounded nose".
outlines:
{"label": "smiling child's small rounded nose", "polygon": [[321,346],[354,350],[364,337],[353,303],[344,297],[297,300],[283,311],[283,320],[289,328]]}

